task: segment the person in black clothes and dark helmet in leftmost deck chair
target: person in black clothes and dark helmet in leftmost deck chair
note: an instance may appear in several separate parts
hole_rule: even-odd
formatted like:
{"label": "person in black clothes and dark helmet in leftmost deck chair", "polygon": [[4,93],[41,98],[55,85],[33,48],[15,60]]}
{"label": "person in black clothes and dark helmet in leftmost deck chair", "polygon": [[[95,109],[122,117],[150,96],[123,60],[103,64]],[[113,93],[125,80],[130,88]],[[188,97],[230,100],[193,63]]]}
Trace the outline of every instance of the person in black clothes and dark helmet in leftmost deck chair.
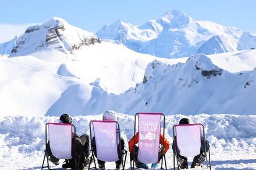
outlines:
{"label": "person in black clothes and dark helmet in leftmost deck chair", "polygon": [[[68,114],[62,114],[59,119],[59,123],[72,123],[72,118]],[[73,133],[73,132],[72,132]],[[74,153],[74,143],[76,143],[76,153],[77,153],[77,163],[79,162],[79,169],[84,169],[87,164],[89,164],[88,158],[90,157],[90,148],[89,148],[89,135],[83,134],[81,137],[79,137],[77,134],[73,133],[72,138],[72,153]],[[50,143],[48,142],[47,145],[47,157],[50,162],[52,162],[54,165],[59,165],[58,158],[54,157],[51,152]],[[80,160],[79,159],[80,155]],[[75,157],[74,155],[72,157]],[[66,159],[65,164],[62,165],[62,168],[72,168],[75,169],[75,159]]]}

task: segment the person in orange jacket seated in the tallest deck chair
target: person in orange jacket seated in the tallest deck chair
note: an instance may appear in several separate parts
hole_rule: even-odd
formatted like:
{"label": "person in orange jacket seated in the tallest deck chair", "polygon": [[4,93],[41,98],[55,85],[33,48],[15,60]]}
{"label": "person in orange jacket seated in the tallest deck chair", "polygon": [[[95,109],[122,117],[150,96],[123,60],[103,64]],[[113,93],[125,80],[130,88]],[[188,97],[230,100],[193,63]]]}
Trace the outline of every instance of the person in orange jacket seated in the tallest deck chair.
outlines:
{"label": "person in orange jacket seated in the tallest deck chair", "polygon": [[[136,146],[136,144],[139,142],[139,132],[137,132],[135,134],[135,158],[133,158],[135,160],[135,166],[137,168],[143,168],[143,169],[148,169],[148,165],[139,162],[139,160],[137,159],[138,157],[138,147]],[[163,147],[163,143],[164,143],[164,147]],[[133,137],[129,140],[128,142],[129,144],[129,152],[133,153],[133,146],[134,146],[134,135]],[[163,137],[163,134],[160,134],[160,139],[159,139],[159,152],[158,152],[158,162],[154,163],[151,165],[151,168],[157,168],[159,165],[159,161],[162,159],[162,149],[164,149],[164,154],[166,154],[167,150],[170,147],[170,142]]]}

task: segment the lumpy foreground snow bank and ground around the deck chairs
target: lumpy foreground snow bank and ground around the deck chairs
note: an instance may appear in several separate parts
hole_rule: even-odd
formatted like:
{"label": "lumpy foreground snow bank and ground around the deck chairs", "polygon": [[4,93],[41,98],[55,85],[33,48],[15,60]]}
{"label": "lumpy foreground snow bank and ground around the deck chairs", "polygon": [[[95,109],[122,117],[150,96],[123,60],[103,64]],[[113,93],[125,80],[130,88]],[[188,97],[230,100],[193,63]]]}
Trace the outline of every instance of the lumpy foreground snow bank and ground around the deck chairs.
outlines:
{"label": "lumpy foreground snow bank and ground around the deck chairs", "polygon": [[[172,126],[183,115],[168,115],[165,137],[172,143]],[[256,116],[195,115],[187,116],[194,123],[205,126],[210,142],[212,169],[256,169]],[[10,116],[0,118],[0,169],[41,169],[45,149],[45,124],[58,122],[59,117]],[[73,117],[77,133],[89,134],[89,122],[101,120],[102,114]],[[126,143],[133,135],[134,116],[119,114],[122,137]],[[163,129],[162,129],[163,130]],[[166,154],[167,168],[173,168],[171,148]],[[62,163],[61,160],[60,163]],[[191,164],[189,159],[189,165]],[[53,164],[50,164],[54,167]],[[61,164],[58,166],[61,167]],[[115,163],[106,163],[107,169],[115,169]],[[130,169],[127,155],[126,168]],[[201,168],[199,168],[201,169]],[[206,168],[203,168],[206,169]]]}

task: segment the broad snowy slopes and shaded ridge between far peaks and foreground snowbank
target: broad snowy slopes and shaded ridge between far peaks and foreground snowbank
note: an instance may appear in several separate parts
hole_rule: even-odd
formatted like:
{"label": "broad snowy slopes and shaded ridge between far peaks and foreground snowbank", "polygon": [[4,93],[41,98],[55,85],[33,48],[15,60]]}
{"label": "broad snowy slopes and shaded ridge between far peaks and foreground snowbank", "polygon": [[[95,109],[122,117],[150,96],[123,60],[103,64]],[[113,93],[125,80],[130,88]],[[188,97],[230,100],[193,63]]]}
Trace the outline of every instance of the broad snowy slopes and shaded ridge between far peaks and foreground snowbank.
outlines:
{"label": "broad snowy slopes and shaded ridge between far peaks and foreground snowbank", "polygon": [[256,111],[256,50],[166,59],[101,43],[75,55],[74,61],[58,50],[2,56],[1,115]]}

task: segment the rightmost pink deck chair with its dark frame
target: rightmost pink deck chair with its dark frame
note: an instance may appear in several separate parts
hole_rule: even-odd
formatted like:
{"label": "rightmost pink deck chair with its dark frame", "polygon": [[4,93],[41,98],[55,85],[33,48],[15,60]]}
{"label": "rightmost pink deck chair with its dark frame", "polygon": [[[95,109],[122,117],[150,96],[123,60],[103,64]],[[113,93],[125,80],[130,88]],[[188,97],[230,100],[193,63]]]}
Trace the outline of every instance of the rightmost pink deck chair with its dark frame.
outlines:
{"label": "rightmost pink deck chair with its dark frame", "polygon": [[[204,134],[204,126],[202,124],[180,124],[180,125],[174,125],[173,126],[173,137],[176,137],[177,140],[177,146],[174,142],[174,149],[175,149],[175,156],[177,158],[177,164],[178,169],[179,163],[178,163],[178,155],[177,155],[177,149],[180,150],[180,155],[185,157],[194,157],[196,155],[200,154],[201,145],[204,145],[205,147],[205,153],[206,153],[206,143],[201,143],[201,128],[203,129],[203,137],[205,141],[205,134]],[[175,169],[175,156],[173,153],[173,169]],[[205,154],[206,158],[206,168],[210,167],[211,169],[211,158],[210,158],[210,149],[209,149],[209,163],[207,162],[207,154]]]}

